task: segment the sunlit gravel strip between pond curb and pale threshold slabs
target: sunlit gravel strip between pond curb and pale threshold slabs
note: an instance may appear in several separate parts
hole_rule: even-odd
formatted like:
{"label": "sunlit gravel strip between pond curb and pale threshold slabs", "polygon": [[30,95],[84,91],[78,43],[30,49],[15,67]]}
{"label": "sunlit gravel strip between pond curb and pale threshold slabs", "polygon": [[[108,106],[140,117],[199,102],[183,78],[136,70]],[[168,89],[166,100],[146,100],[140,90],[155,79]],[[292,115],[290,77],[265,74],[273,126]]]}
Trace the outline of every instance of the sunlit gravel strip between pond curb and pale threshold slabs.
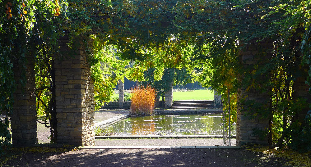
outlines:
{"label": "sunlit gravel strip between pond curb and pale threshold slabs", "polygon": [[[235,138],[231,140],[235,144]],[[222,138],[96,139],[95,146],[215,146]]]}

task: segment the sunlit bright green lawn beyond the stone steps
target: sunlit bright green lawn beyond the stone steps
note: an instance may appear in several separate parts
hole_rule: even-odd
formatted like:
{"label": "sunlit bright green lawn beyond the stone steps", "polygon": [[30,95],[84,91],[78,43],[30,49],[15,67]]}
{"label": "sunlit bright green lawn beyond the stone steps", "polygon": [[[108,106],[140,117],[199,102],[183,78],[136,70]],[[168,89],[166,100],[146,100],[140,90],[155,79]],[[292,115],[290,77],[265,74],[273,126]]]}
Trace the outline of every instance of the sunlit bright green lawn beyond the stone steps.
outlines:
{"label": "sunlit bright green lawn beyond the stone steps", "polygon": [[[131,95],[131,93],[126,93]],[[112,97],[118,97],[119,94],[114,94]],[[162,98],[160,98],[161,100]],[[194,90],[193,92],[173,92],[173,101],[176,100],[213,100],[214,92],[211,90]]]}

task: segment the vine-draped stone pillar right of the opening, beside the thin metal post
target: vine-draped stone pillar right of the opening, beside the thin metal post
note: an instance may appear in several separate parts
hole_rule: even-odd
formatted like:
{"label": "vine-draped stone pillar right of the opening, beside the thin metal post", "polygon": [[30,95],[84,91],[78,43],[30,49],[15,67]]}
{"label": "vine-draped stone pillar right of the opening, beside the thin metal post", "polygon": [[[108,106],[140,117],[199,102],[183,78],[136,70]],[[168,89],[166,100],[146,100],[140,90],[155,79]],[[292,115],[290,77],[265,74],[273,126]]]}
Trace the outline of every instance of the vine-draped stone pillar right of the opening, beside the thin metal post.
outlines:
{"label": "vine-draped stone pillar right of the opening, beside the thin metal post", "polygon": [[[263,48],[263,49],[262,49]],[[241,56],[241,64],[244,68],[253,67],[254,64],[261,65],[264,64],[264,61],[267,60],[267,55],[258,56],[258,50],[264,50],[267,52],[269,49],[269,43],[254,43],[248,44],[243,51],[240,52]],[[261,61],[260,61],[261,60]],[[240,79],[243,81],[244,74],[240,74]],[[260,81],[257,84],[260,84]],[[255,103],[261,103],[270,107],[270,96],[269,94],[262,93],[258,90],[250,88],[249,91],[246,91],[246,88],[242,87],[239,90],[238,103],[245,100],[254,100]],[[237,108],[237,146],[241,146],[244,143],[252,142],[262,145],[268,144],[267,133],[254,133],[254,130],[262,130],[263,132],[267,132],[267,128],[269,125],[268,119],[262,119],[260,115],[255,116],[254,119],[249,119],[249,115],[247,112],[246,106],[239,105]]]}

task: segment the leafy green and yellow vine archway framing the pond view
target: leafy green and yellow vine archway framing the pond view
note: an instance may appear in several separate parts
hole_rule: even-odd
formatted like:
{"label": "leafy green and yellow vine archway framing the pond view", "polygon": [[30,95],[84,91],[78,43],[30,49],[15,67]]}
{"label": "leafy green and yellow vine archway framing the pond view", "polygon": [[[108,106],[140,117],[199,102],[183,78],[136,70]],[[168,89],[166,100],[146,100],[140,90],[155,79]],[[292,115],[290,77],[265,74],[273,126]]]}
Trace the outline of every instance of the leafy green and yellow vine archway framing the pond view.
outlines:
{"label": "leafy green and yellow vine archway framing the pond view", "polygon": [[[298,77],[304,77],[310,85],[308,1],[0,2],[4,2],[0,8],[3,15],[0,20],[0,44],[3,48],[0,59],[3,64],[0,68],[0,102],[1,110],[7,111],[7,115],[10,115],[14,102],[12,94],[16,83],[20,82],[12,77],[13,61],[23,70],[25,54],[32,53],[37,63],[51,66],[49,62],[58,52],[58,39],[61,36],[69,35],[71,41],[68,46],[74,47],[77,36],[92,35],[96,41],[94,50],[100,51],[107,45],[116,47],[118,57],[136,62],[131,74],[141,76],[141,79],[143,71],[150,67],[180,68],[189,62],[200,61],[204,69],[201,72],[202,83],[221,93],[230,89],[233,98],[231,106],[235,108],[235,97],[241,87],[271,93],[272,113],[267,116],[273,124],[265,132],[271,137],[271,146],[274,143],[281,145],[283,139],[286,139],[285,144],[293,143],[293,133],[310,133],[309,123],[302,126],[299,121],[296,124],[292,121],[296,114],[293,110],[304,108],[304,100],[293,97],[293,83]],[[265,65],[253,66],[251,71],[241,68],[239,51],[249,43],[262,40],[272,43],[271,57]],[[185,54],[189,48],[193,50],[193,61],[189,61]],[[100,68],[96,64],[101,58],[94,56],[91,65]],[[242,82],[239,80],[240,74],[244,74]],[[253,82],[262,75],[270,76],[264,84]],[[102,74],[94,75],[98,76]],[[25,83],[25,79],[21,81]],[[50,89],[52,84],[40,88]],[[97,84],[99,87],[107,86]],[[45,108],[50,111],[48,106]],[[255,111],[262,114],[259,110]],[[53,117],[53,111],[46,113],[47,117]],[[4,137],[1,139],[2,150],[11,140],[7,127],[8,120],[1,121],[1,134]],[[299,133],[303,128],[306,133]],[[292,146],[298,147],[295,144]]]}

